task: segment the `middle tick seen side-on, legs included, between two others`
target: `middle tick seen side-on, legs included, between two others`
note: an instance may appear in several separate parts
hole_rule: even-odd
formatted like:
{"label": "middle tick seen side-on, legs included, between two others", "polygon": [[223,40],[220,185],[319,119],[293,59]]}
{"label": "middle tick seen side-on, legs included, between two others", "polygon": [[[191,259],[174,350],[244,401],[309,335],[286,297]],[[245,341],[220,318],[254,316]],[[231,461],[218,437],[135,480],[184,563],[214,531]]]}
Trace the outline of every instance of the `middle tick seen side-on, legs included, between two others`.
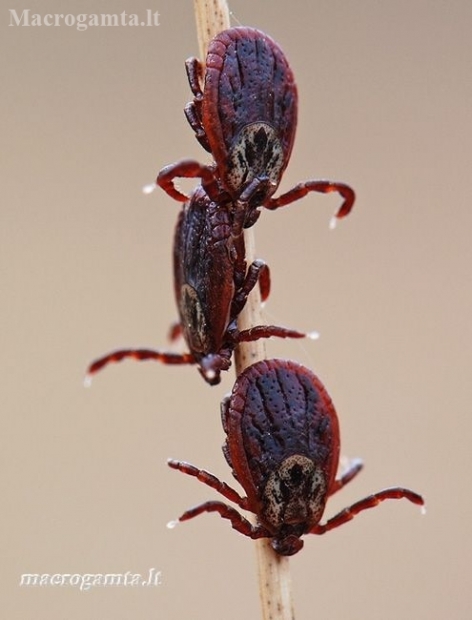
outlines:
{"label": "middle tick seen side-on, legs included, between two others", "polygon": [[239,331],[237,318],[247,297],[259,282],[262,299],[270,289],[267,265],[255,260],[247,268],[244,236],[233,234],[230,214],[211,201],[201,186],[182,209],[174,237],[174,290],[179,312],[178,328],[188,353],[154,349],[120,349],[91,364],[90,377],[110,362],[124,358],[157,360],[164,364],[197,364],[211,385],[231,365],[231,354],[240,342],[259,338],[303,338],[307,334],[259,325]]}

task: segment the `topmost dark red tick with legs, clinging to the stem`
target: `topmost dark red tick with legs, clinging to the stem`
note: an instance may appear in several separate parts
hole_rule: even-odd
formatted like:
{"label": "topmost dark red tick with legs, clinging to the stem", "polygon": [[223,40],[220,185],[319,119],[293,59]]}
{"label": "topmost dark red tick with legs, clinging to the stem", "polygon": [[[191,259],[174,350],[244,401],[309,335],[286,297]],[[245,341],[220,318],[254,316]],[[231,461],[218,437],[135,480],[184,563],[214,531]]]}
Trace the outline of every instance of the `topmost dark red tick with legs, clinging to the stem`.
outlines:
{"label": "topmost dark red tick with legs, clinging to the stem", "polygon": [[186,201],[174,179],[199,177],[212,200],[231,204],[245,227],[257,220],[258,207],[277,209],[312,191],[338,192],[336,217],[349,213],[355,194],[344,183],[305,181],[272,197],[292,152],[298,105],[292,70],[273,39],[254,28],[230,28],[210,42],[205,67],[190,58],[186,68],[194,99],[185,114],[214,163],[187,159],[163,168],[157,184],[170,196]]}

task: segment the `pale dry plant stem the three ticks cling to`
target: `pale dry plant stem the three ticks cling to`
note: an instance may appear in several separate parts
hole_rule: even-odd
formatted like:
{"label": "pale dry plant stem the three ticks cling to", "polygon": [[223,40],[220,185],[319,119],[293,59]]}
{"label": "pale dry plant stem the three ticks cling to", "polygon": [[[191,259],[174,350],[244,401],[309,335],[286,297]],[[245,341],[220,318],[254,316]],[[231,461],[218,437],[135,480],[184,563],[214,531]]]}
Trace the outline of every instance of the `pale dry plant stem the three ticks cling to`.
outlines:
{"label": "pale dry plant stem the three ticks cling to", "polygon": [[[194,0],[200,58],[206,58],[208,43],[222,30],[230,27],[226,0]],[[253,227],[244,231],[247,264],[255,258]],[[252,290],[238,320],[240,330],[262,325],[259,287]],[[266,357],[264,340],[239,345],[235,351],[236,374]],[[259,592],[263,620],[294,620],[289,559],[278,555],[267,538],[255,541]]]}

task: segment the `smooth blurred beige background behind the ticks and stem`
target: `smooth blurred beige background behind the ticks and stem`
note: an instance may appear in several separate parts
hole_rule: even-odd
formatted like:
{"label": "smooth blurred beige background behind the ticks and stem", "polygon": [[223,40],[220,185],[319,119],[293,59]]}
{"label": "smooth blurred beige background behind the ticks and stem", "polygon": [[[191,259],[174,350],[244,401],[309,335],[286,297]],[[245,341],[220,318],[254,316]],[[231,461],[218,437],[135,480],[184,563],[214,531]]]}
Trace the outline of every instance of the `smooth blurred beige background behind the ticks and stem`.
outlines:
{"label": "smooth blurred beige background behind the ticks and stem", "polygon": [[[8,8],[145,13],[156,28],[9,27]],[[472,4],[234,0],[297,76],[300,119],[282,190],[308,178],[336,197],[263,213],[268,320],[318,342],[268,343],[319,374],[342,452],[365,471],[326,516],[391,485],[422,492],[364,513],[291,560],[297,619],[465,620],[470,566]],[[236,22],[235,22],[236,24]],[[184,119],[190,2],[4,3],[2,36],[2,618],[258,618],[251,541],[205,515],[215,497],[166,467],[189,460],[232,483],[219,402],[194,368],[123,363],[164,348],[176,317],[178,205],[141,193],[165,164],[206,160]],[[157,588],[20,588],[22,573],[162,572]]]}

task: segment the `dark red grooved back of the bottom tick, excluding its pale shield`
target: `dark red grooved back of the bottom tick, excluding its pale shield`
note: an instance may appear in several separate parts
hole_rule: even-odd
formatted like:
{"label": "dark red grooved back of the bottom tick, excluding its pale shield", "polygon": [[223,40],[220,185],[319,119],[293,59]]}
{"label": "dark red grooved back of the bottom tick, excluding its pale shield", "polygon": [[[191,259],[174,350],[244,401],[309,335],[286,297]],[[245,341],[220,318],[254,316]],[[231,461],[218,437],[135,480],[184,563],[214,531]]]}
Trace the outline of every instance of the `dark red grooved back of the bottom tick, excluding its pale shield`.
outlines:
{"label": "dark red grooved back of the bottom tick, excluding its pale shield", "polygon": [[224,413],[224,453],[252,501],[269,476],[294,455],[323,472],[326,489],[339,459],[339,426],[320,380],[287,360],[265,360],[243,372]]}

